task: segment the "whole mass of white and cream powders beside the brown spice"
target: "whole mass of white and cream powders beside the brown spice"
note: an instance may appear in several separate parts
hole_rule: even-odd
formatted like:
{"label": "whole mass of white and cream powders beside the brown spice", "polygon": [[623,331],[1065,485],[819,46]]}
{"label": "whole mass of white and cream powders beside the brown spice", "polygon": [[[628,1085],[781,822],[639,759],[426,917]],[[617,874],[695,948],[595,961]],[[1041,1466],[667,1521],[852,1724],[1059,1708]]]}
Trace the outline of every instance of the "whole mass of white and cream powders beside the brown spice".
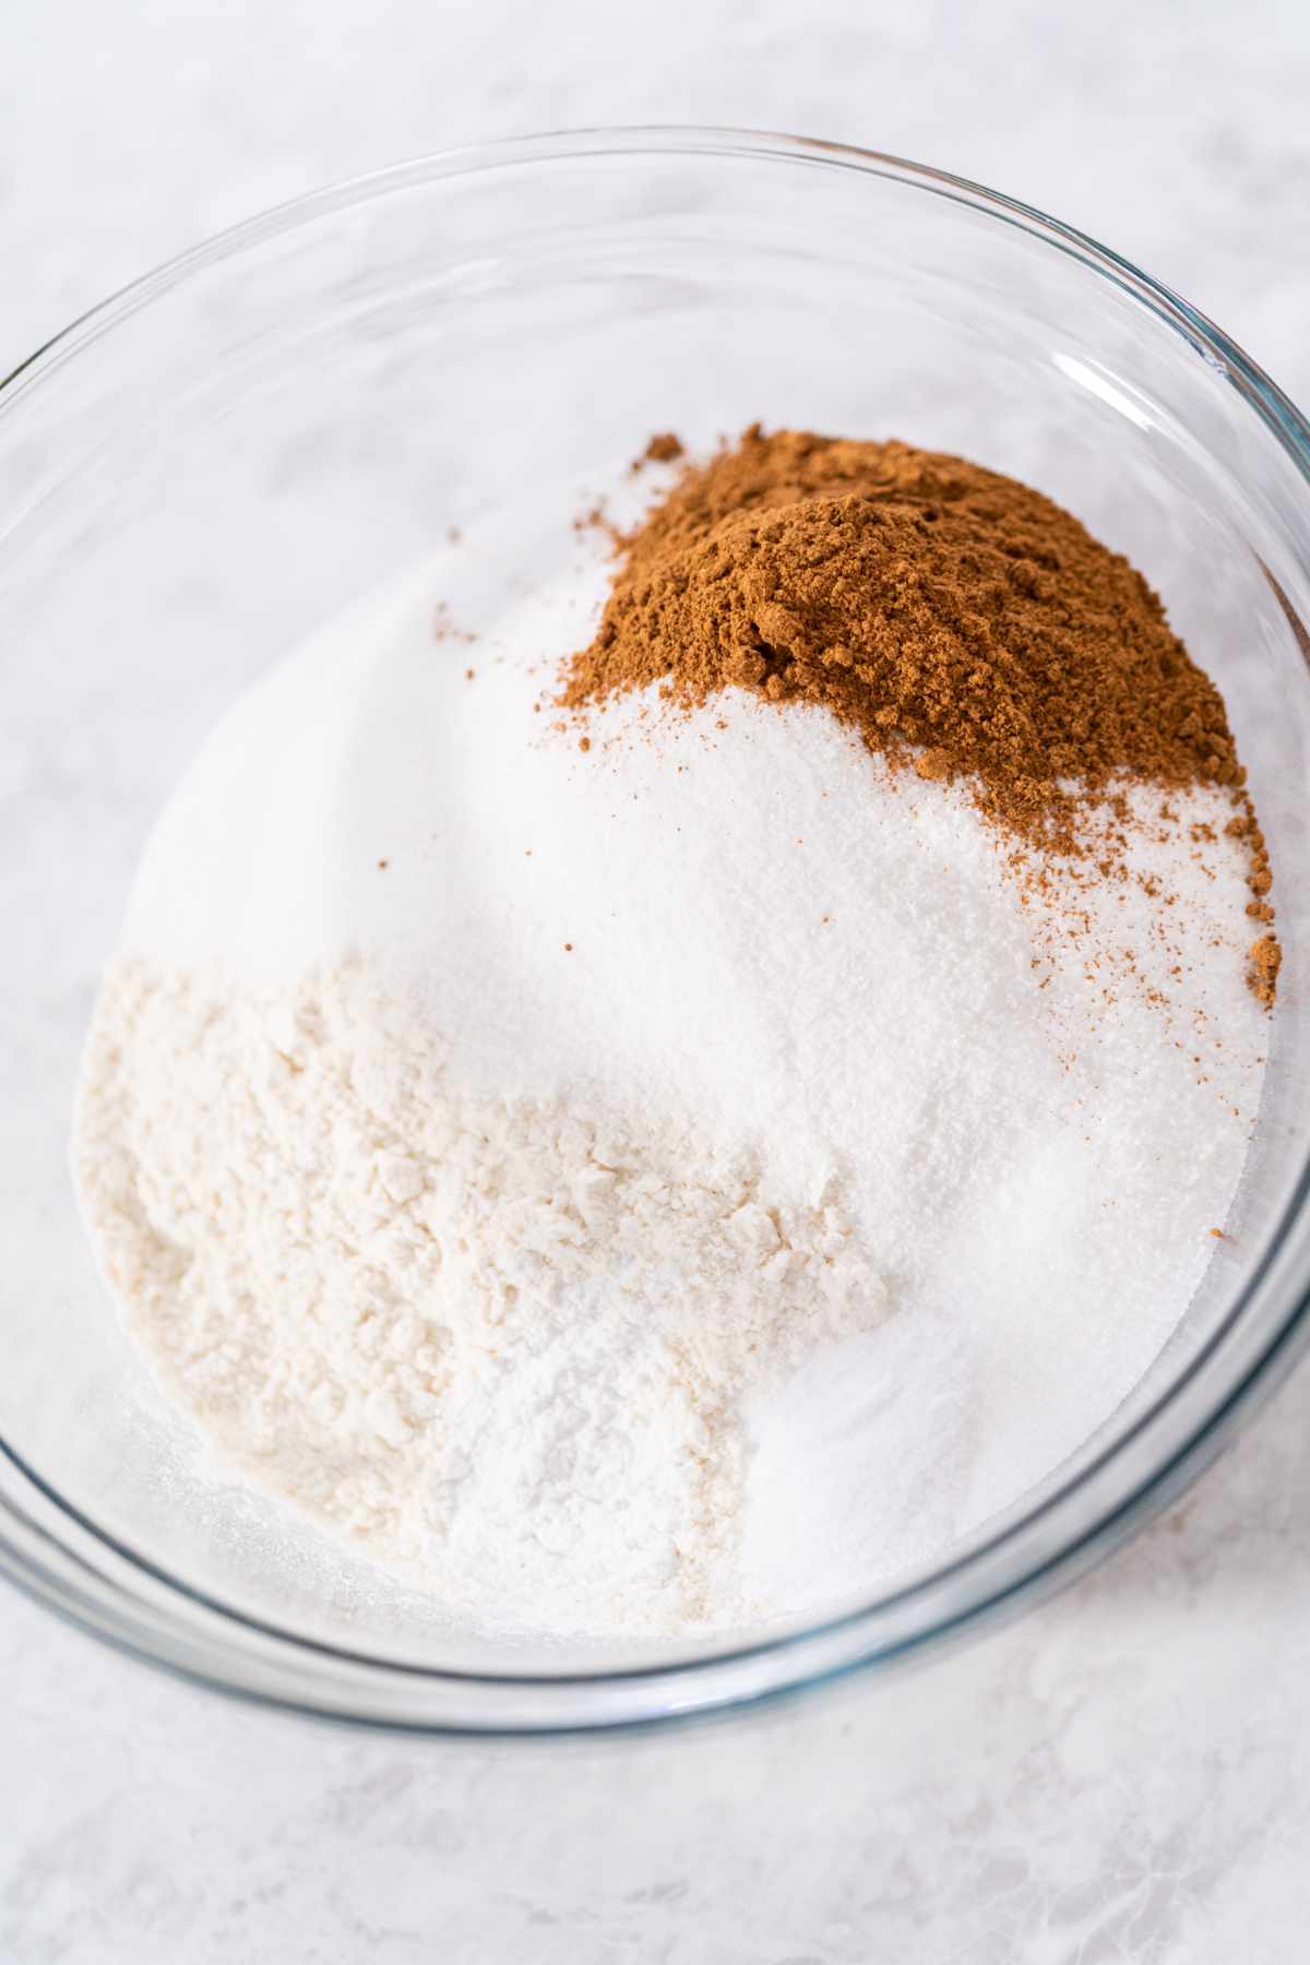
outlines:
{"label": "whole mass of white and cream powders beside the brown spice", "polygon": [[1137,792],[1145,884],[1037,900],[807,707],[636,698],[583,755],[568,554],[507,603],[471,544],[214,735],[77,1171],[263,1486],[489,1627],[744,1627],[941,1554],[1151,1364],[1255,1118],[1247,890],[1218,794]]}

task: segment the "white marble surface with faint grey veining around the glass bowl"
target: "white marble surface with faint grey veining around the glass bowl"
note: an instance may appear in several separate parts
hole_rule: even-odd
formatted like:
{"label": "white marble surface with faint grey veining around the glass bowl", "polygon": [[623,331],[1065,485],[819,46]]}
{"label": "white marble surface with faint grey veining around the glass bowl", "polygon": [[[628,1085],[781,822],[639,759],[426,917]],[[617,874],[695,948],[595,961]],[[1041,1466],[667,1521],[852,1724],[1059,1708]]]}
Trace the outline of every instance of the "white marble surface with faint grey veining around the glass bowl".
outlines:
{"label": "white marble surface with faint grey veining around the glass bowl", "polygon": [[[10,0],[0,371],[318,181],[475,136],[713,120],[1045,204],[1304,401],[1306,100],[1310,14],[1286,0]],[[1182,1509],[1023,1623],[699,1733],[332,1731],[4,1594],[0,1959],[1292,1965],[1308,1629],[1310,1370]]]}

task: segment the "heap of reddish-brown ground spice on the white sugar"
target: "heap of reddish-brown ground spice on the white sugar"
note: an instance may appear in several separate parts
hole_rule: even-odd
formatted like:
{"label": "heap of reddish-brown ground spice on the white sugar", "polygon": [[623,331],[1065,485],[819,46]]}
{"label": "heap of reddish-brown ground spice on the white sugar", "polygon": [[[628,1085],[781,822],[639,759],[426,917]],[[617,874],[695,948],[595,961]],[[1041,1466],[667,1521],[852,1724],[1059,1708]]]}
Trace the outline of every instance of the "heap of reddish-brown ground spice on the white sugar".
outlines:
{"label": "heap of reddish-brown ground spice on the white sugar", "polygon": [[[817,703],[890,762],[968,780],[990,821],[1064,857],[1106,859],[1125,782],[1229,788],[1249,912],[1273,920],[1220,692],[1141,574],[1029,485],[901,442],[752,424],[689,466],[621,554],[568,707],[650,684],[683,705],[725,688]],[[1249,967],[1271,1002],[1273,935]]]}

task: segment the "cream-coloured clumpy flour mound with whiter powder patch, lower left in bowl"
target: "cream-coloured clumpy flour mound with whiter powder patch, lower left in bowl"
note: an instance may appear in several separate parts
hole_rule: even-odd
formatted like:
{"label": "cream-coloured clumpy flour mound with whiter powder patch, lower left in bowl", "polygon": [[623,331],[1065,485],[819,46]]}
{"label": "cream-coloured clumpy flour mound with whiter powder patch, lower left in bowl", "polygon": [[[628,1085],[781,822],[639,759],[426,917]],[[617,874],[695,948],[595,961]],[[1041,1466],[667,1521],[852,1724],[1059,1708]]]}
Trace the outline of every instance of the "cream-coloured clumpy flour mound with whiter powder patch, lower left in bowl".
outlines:
{"label": "cream-coloured clumpy flour mound with whiter powder patch, lower left in bowl", "polygon": [[226,1458],[452,1609],[733,1625],[742,1405],[872,1328],[841,1181],[674,1120],[458,1096],[422,1006],[120,959],[77,1177],[165,1389]]}

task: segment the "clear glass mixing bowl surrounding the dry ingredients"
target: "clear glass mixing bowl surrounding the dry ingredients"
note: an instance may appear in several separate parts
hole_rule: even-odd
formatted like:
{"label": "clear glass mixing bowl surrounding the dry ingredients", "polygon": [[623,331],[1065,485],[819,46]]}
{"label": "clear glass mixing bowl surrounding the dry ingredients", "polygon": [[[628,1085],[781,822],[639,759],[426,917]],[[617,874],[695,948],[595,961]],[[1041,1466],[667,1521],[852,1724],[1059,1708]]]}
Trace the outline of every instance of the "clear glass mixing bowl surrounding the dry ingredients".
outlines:
{"label": "clear glass mixing bowl surrounding the dry ingredients", "polygon": [[[511,491],[764,419],[958,450],[1129,552],[1226,692],[1286,986],[1239,1234],[1133,1399],[1010,1517],[876,1601],[733,1649],[456,1639],[196,1472],[67,1173],[84,1022],[149,821],[302,633]],[[426,1729],[611,1727],[880,1664],[1123,1537],[1292,1354],[1310,1277],[1310,432],[1090,240],[825,143],[595,132],[271,212],[108,301],[0,391],[0,1562],[159,1664]],[[852,1580],[854,1586],[854,1580]]]}

